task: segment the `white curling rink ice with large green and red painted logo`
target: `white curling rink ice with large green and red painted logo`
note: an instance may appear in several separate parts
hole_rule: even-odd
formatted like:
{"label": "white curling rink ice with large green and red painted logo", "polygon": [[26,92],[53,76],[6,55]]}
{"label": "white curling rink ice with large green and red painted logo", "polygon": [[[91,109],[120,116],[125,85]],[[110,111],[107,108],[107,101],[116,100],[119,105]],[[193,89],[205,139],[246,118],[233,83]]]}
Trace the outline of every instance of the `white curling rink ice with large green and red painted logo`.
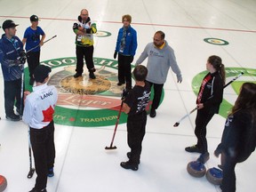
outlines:
{"label": "white curling rink ice with large green and red painted logo", "polygon": [[[75,74],[75,34],[72,31],[80,11],[86,8],[97,23],[94,36],[94,58],[97,80],[108,76],[108,87],[97,93],[95,82],[84,76],[75,83],[91,95],[67,93],[63,79]],[[30,25],[29,17],[36,14],[39,26],[44,29],[45,40],[41,62],[52,67],[51,84],[58,87],[59,106],[56,109],[55,175],[48,179],[49,192],[218,192],[219,186],[205,177],[193,178],[187,164],[198,154],[189,154],[184,148],[196,143],[194,135],[196,112],[180,122],[195,108],[196,94],[205,72],[207,58],[216,54],[227,68],[227,82],[244,71],[244,76],[229,85],[224,92],[221,111],[227,115],[236,100],[237,87],[256,78],[256,1],[255,0],[1,0],[0,25],[4,20],[20,24],[17,36]],[[115,150],[105,150],[110,145],[121,104],[122,87],[116,86],[116,60],[113,53],[116,36],[122,28],[121,17],[132,15],[132,27],[138,33],[135,62],[146,44],[153,40],[157,30],[163,30],[165,40],[175,51],[183,81],[176,83],[176,76],[169,71],[164,84],[164,100],[156,111],[156,118],[148,116],[147,132],[143,140],[140,167],[137,172],[120,167],[129,151],[126,140],[126,116],[122,113],[118,124]],[[3,29],[0,29],[3,32]],[[146,65],[147,60],[143,62]],[[26,70],[27,64],[26,64]],[[101,80],[102,80],[101,79]],[[29,170],[28,126],[5,119],[4,79],[0,74],[0,174],[8,181],[6,192],[25,192],[35,185],[36,173],[27,179]],[[28,71],[25,73],[26,89]],[[69,81],[74,81],[69,77]],[[95,80],[96,81],[96,80]],[[103,80],[102,80],[103,81]],[[61,84],[60,84],[61,82]],[[67,82],[67,81],[66,81]],[[64,82],[65,83],[65,82]],[[93,86],[94,85],[94,86]],[[64,88],[63,88],[64,87]],[[94,90],[96,89],[96,91]],[[67,96],[67,95],[68,96]],[[66,95],[66,97],[65,97]],[[71,99],[70,99],[71,98]],[[95,101],[95,102],[94,102]],[[105,106],[100,101],[110,103]],[[96,105],[93,105],[95,104]],[[105,116],[105,117],[102,117]],[[207,168],[220,164],[213,151],[220,143],[225,118],[213,116],[207,127],[210,160]],[[33,163],[34,164],[34,163]],[[243,164],[236,165],[236,191],[255,191],[256,153]]]}

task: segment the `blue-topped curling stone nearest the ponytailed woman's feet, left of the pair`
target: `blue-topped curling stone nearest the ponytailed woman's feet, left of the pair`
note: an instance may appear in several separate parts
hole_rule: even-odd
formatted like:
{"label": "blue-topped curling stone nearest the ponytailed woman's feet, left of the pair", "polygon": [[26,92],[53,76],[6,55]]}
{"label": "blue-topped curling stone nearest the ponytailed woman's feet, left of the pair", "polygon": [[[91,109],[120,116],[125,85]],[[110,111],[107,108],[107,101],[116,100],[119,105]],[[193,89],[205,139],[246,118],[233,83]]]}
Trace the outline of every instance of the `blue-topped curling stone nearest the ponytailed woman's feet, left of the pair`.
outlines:
{"label": "blue-topped curling stone nearest the ponytailed woman's feet, left of the pair", "polygon": [[187,171],[193,177],[200,178],[204,176],[206,169],[204,164],[201,164],[198,161],[192,161],[188,163]]}

